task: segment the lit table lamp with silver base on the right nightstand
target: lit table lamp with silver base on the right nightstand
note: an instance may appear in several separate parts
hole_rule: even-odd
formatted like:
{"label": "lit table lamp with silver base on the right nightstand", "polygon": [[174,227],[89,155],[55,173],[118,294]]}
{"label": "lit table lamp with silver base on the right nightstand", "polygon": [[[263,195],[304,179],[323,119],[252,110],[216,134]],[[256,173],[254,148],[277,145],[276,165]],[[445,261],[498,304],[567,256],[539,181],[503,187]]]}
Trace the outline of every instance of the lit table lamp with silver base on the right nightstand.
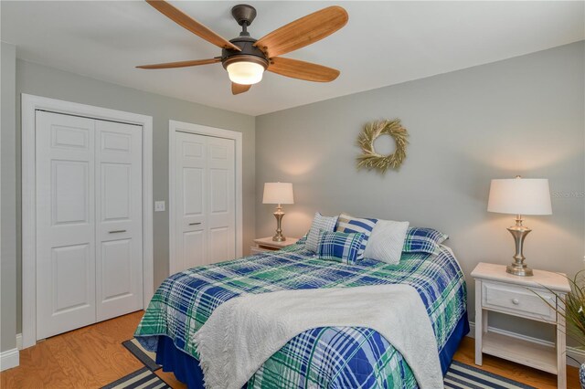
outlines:
{"label": "lit table lamp with silver base on the right nightstand", "polygon": [[532,276],[532,269],[524,263],[522,245],[524,238],[532,231],[522,226],[522,215],[551,215],[550,189],[548,180],[541,178],[516,178],[492,180],[487,203],[488,212],[516,214],[516,226],[508,228],[516,242],[514,262],[505,271],[516,276]]}

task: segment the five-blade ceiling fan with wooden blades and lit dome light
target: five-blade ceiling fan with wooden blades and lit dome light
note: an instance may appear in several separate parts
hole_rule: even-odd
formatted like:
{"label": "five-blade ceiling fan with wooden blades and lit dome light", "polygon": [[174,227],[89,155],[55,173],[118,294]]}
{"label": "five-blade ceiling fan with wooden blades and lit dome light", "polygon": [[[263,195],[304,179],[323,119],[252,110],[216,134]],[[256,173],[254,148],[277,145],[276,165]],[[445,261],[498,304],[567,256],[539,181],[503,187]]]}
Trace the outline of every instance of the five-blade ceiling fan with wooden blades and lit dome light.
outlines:
{"label": "five-blade ceiling fan with wooden blades and lit dome light", "polygon": [[164,0],[146,2],[179,26],[221,47],[222,50],[221,56],[215,58],[143,65],[136,68],[185,68],[221,62],[228,70],[231,92],[234,95],[246,92],[253,84],[260,82],[264,70],[293,79],[315,82],[330,82],[339,76],[339,70],[335,68],[279,56],[311,45],[346,26],[348,16],[341,6],[328,6],[282,26],[260,39],[254,39],[250,37],[248,26],[256,17],[256,9],[251,5],[235,5],[231,8],[231,15],[242,30],[239,37],[227,40]]}

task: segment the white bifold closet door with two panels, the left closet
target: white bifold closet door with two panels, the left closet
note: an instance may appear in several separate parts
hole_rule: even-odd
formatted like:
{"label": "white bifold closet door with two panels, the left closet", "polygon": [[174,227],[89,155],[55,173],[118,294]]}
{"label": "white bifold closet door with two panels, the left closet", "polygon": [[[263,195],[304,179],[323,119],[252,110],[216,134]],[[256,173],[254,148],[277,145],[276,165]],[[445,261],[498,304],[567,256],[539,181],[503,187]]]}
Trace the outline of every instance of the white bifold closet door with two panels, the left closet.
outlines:
{"label": "white bifold closet door with two panels, the left closet", "polygon": [[142,308],[142,128],[37,111],[37,339]]}

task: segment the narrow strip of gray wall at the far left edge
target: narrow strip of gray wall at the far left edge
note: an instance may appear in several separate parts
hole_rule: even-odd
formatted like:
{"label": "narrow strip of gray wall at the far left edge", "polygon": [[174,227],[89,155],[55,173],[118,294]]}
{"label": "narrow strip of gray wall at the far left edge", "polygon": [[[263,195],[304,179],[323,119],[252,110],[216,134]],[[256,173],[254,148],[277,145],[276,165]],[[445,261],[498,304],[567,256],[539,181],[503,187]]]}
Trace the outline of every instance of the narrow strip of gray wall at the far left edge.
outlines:
{"label": "narrow strip of gray wall at the far left edge", "polygon": [[16,47],[2,42],[0,51],[2,131],[0,155],[0,352],[16,347]]}

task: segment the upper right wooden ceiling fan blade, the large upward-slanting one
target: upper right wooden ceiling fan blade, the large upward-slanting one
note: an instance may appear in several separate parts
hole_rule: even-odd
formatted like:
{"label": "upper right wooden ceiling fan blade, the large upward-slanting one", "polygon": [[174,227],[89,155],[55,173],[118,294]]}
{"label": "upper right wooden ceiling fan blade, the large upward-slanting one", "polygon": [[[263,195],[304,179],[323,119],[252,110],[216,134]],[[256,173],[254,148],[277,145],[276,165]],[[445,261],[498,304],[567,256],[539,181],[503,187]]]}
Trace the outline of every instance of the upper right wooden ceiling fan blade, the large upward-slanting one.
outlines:
{"label": "upper right wooden ceiling fan blade, the large upward-slanting one", "polygon": [[348,18],[341,6],[328,6],[272,31],[258,39],[254,46],[271,58],[281,56],[330,36],[346,26]]}

